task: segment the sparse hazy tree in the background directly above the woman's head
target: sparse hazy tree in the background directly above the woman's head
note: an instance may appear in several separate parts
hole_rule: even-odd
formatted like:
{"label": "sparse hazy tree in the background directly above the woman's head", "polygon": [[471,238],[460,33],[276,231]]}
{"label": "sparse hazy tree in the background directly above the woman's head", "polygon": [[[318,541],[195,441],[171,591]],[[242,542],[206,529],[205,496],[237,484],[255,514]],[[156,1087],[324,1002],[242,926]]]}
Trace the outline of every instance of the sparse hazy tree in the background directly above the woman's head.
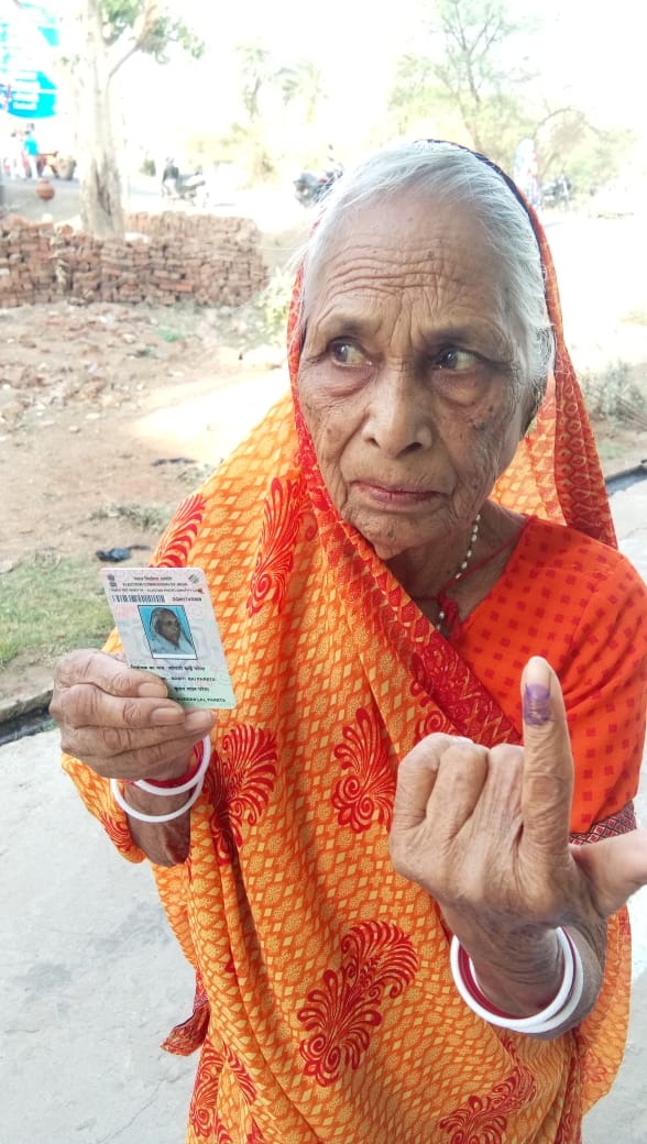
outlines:
{"label": "sparse hazy tree in the background directly above the woman's head", "polygon": [[535,140],[539,178],[567,174],[587,192],[617,174],[630,132],[605,132],[582,109],[551,106],[526,57],[535,18],[514,18],[505,0],[439,0],[436,17],[401,57],[389,93],[393,129],[465,142],[507,170],[521,138]]}

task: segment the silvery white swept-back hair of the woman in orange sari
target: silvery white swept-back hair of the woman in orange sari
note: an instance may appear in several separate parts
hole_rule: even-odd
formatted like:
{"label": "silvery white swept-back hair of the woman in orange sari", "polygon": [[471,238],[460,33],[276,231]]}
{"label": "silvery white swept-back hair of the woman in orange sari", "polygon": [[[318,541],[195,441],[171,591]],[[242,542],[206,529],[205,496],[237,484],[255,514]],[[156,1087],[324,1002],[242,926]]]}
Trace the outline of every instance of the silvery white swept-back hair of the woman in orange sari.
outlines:
{"label": "silvery white swept-back hair of the woman in orange sari", "polygon": [[468,207],[483,227],[504,268],[511,316],[526,335],[522,349],[529,375],[524,381],[534,394],[534,415],[554,360],[554,335],[546,309],[538,241],[527,210],[502,173],[453,143],[419,141],[385,148],[333,185],[302,260],[301,319],[308,283],[325,260],[331,239],[348,212],[410,188]]}

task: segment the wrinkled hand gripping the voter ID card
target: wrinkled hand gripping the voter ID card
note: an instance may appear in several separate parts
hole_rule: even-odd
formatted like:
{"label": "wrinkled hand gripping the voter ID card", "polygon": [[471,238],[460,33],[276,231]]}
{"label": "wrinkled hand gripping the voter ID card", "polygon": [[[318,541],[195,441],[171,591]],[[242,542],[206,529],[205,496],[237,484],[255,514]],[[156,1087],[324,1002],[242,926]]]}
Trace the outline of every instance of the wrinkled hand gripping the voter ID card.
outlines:
{"label": "wrinkled hand gripping the voter ID card", "polygon": [[212,730],[213,712],[168,699],[157,675],[102,651],[72,651],[54,672],[49,707],[63,750],[104,778],[173,779],[194,745]]}

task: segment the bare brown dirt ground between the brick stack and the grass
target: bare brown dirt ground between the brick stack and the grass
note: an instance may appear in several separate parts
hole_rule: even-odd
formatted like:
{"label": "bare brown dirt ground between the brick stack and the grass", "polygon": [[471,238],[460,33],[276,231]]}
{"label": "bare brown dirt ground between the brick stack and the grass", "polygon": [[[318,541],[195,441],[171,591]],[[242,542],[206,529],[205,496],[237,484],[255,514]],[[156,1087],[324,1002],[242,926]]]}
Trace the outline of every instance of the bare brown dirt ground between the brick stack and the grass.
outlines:
{"label": "bare brown dirt ground between the brick stack and the grass", "polygon": [[[282,357],[267,348],[246,359],[236,324],[166,308],[6,310],[0,339],[0,567],[42,549],[150,543],[159,525],[142,529],[125,506],[152,516],[214,468],[218,391]],[[213,420],[189,442],[182,407],[199,399]]]}

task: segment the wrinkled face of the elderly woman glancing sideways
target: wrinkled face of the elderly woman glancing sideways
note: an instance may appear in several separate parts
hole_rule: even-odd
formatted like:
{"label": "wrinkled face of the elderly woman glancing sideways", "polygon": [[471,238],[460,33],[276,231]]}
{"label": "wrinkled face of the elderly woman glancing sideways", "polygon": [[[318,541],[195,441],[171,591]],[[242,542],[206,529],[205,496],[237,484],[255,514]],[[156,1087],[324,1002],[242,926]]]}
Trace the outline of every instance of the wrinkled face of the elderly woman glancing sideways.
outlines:
{"label": "wrinkled face of the elderly woman glancing sideways", "polygon": [[370,204],[313,269],[299,399],[333,503],[382,559],[472,524],[521,437],[519,343],[465,208]]}

